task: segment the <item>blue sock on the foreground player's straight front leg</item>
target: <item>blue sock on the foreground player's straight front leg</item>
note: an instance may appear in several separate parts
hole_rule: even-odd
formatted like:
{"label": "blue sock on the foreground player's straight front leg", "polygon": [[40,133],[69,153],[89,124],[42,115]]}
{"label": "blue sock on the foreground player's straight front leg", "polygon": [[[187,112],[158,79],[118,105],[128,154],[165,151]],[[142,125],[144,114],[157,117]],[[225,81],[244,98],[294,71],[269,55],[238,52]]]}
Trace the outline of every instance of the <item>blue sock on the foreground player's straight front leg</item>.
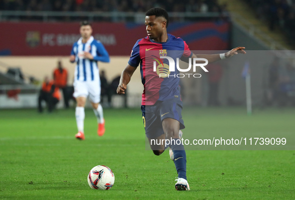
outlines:
{"label": "blue sock on the foreground player's straight front leg", "polygon": [[178,178],[186,179],[186,153],[180,139],[172,139],[170,148],[173,150],[174,164]]}

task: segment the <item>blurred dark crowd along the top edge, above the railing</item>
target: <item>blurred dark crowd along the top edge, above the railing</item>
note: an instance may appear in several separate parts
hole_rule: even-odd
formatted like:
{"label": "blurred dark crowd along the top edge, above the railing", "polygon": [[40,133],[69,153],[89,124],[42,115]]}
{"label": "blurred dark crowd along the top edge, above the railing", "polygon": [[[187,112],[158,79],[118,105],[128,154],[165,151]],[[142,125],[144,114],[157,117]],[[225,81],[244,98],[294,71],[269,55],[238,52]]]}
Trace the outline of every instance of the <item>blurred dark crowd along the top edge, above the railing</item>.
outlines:
{"label": "blurred dark crowd along the top edge, above the railing", "polygon": [[162,7],[169,12],[216,12],[217,0],[1,0],[0,10],[145,12]]}

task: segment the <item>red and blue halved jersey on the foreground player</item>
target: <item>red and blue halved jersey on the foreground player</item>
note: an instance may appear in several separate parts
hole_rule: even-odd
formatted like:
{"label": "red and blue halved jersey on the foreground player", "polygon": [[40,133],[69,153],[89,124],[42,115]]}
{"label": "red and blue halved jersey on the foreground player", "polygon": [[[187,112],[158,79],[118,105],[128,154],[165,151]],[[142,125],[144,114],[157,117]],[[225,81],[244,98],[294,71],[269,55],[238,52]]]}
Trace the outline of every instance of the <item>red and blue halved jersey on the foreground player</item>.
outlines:
{"label": "red and blue halved jersey on the foreground player", "polygon": [[[144,85],[142,105],[153,105],[157,100],[180,97],[179,71],[176,63],[181,57],[192,55],[186,42],[171,34],[168,34],[166,42],[161,43],[150,40],[148,36],[137,40],[128,64],[132,67],[140,65],[141,81]],[[161,56],[174,60],[174,70],[169,68],[171,62],[166,58],[160,58]]]}

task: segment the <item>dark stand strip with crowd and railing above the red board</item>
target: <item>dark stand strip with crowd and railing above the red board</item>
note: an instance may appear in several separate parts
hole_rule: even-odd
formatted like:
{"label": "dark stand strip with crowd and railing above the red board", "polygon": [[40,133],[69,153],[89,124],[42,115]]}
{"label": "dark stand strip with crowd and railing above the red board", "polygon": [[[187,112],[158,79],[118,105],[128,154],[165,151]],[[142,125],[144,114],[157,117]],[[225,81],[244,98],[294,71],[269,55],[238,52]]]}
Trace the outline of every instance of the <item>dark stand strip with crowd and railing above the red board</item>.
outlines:
{"label": "dark stand strip with crowd and railing above the red board", "polygon": [[[0,1],[0,21],[107,21],[136,22],[151,7],[163,7],[170,21],[225,18],[226,6],[217,0],[4,0]],[[185,13],[180,17],[179,13]],[[183,15],[183,14],[182,14]],[[192,17],[196,16],[196,17]],[[138,16],[138,17],[137,17]],[[205,18],[204,16],[208,16]]]}

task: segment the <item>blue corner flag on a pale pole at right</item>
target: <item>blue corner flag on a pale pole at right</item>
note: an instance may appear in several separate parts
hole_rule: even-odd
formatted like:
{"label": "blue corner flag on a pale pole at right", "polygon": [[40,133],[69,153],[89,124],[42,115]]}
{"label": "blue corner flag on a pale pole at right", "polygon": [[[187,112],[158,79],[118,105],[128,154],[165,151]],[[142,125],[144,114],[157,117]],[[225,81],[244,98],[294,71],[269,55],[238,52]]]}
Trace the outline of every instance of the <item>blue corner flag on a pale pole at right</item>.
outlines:
{"label": "blue corner flag on a pale pole at right", "polygon": [[250,75],[250,66],[249,62],[245,62],[242,77],[246,81],[246,102],[247,102],[247,114],[252,114],[252,98],[251,98],[251,75]]}

